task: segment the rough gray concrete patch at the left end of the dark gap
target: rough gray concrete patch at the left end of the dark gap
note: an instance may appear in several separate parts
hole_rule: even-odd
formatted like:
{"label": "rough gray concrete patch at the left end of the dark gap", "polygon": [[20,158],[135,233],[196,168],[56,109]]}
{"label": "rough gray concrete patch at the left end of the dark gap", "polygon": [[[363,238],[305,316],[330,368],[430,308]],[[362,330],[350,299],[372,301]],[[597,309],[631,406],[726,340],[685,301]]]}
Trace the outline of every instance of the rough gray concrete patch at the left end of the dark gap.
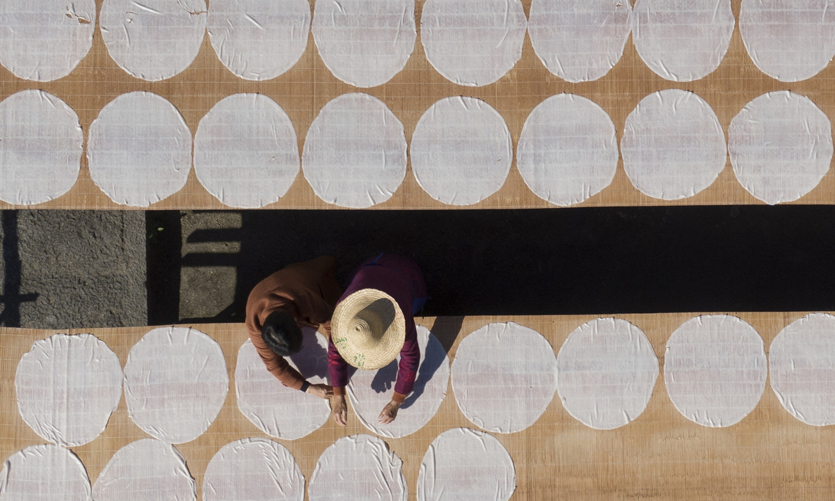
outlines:
{"label": "rough gray concrete patch at the left end of the dark gap", "polygon": [[3,325],[147,324],[143,212],[5,210],[0,232]]}

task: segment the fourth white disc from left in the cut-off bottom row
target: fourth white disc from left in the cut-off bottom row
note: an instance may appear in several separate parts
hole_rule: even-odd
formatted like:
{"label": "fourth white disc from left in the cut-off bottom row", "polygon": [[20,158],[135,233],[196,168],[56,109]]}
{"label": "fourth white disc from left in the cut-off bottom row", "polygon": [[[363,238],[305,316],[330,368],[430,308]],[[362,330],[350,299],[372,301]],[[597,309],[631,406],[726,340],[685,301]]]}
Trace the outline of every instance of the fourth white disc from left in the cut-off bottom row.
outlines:
{"label": "fourth white disc from left in the cut-off bottom row", "polygon": [[406,501],[403,462],[381,438],[351,435],[325,449],[311,476],[311,501]]}

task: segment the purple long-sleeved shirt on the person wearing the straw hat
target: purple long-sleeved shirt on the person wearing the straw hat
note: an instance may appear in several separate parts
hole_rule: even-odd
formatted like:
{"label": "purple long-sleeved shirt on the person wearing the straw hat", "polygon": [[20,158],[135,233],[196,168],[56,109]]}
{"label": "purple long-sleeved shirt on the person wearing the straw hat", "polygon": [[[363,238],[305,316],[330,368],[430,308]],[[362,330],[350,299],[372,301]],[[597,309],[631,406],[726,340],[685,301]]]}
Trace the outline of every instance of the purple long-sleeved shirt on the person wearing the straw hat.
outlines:
{"label": "purple long-sleeved shirt on the person wearing the straw hat", "polygon": [[[417,329],[412,316],[412,305],[415,300],[420,301],[426,297],[423,273],[417,264],[407,257],[383,254],[362,263],[351,284],[337,301],[337,306],[347,296],[362,289],[377,289],[392,296],[405,317],[406,341],[400,351],[400,365],[392,397],[396,402],[403,402],[412,392],[417,377],[417,366],[420,364],[420,347],[417,346]],[[327,360],[331,386],[345,387],[348,383],[348,363],[339,354],[333,342],[328,345]],[[342,394],[338,390],[336,392]]]}

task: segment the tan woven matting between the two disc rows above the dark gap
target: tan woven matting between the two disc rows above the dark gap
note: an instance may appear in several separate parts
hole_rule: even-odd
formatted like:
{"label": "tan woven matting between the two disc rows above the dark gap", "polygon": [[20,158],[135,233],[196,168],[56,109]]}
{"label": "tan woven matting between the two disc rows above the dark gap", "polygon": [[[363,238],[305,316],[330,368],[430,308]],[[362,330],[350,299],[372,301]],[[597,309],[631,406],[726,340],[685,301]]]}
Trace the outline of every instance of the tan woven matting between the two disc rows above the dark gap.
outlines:
{"label": "tan woven matting between the two disc rows above the dark gap", "polygon": [[[210,0],[208,0],[210,2]],[[311,5],[315,0],[311,0]],[[102,0],[96,0],[101,7]],[[522,0],[529,13],[530,0]],[[733,13],[739,18],[741,0],[732,0]],[[722,128],[727,132],[731,119],[751,99],[775,90],[792,90],[812,99],[830,119],[835,118],[835,65],[830,64],[817,76],[797,83],[782,83],[762,73],[751,62],[742,44],[739,26],[734,30],[731,46],[715,72],[695,82],[676,83],[660,78],[640,60],[631,38],[625,53],[604,78],[588,83],[567,83],[557,78],[539,61],[529,36],[525,36],[522,59],[498,80],[484,87],[463,87],[449,82],[430,65],[420,41],[420,13],[423,0],[417,0],[416,19],[418,38],[412,58],[406,68],[384,85],[372,89],[357,89],[342,83],[322,63],[312,35],[307,48],[296,65],[278,78],[266,82],[251,82],[230,73],[211,47],[205,35],[200,54],[183,73],[163,82],[149,83],[131,77],[110,58],[97,26],[93,48],[73,73],[55,82],[38,83],[13,76],[0,68],[0,99],[23,89],[42,89],[54,94],[72,107],[81,121],[85,139],[90,123],[99,111],[120,94],[149,91],[163,96],[180,109],[192,134],[200,119],[218,102],[231,94],[260,93],[274,99],[290,116],[299,138],[299,151],[307,129],[319,110],[331,99],[351,92],[365,92],[382,99],[397,115],[406,129],[407,141],[424,111],[438,99],[449,96],[472,96],[483,99],[504,116],[514,139],[519,141],[524,120],[536,105],[554,94],[571,93],[600,104],[615,122],[618,141],[623,134],[626,116],[635,109],[640,99],[661,89],[691,90],[705,99],[716,112]],[[312,11],[311,11],[312,12]],[[86,147],[86,140],[85,140]],[[85,150],[86,151],[86,150]],[[656,200],[641,194],[626,177],[623,162],[618,164],[612,184],[600,194],[580,206],[611,205],[721,205],[761,204],[736,181],[730,160],[716,182],[696,196],[683,200]],[[817,188],[797,200],[798,204],[835,203],[835,172],[830,170]],[[0,202],[0,208],[10,205]],[[126,209],[116,205],[90,179],[86,153],[82,159],[78,182],[68,194],[38,207],[54,209]],[[514,165],[501,190],[476,205],[458,207],[444,205],[424,192],[412,175],[411,164],[401,187],[391,200],[374,209],[495,209],[554,207],[539,199],[524,184]],[[151,206],[152,209],[225,209],[211,196],[191,171],[188,183],[179,193]],[[335,209],[313,193],[300,173],[290,191],[269,209]]]}

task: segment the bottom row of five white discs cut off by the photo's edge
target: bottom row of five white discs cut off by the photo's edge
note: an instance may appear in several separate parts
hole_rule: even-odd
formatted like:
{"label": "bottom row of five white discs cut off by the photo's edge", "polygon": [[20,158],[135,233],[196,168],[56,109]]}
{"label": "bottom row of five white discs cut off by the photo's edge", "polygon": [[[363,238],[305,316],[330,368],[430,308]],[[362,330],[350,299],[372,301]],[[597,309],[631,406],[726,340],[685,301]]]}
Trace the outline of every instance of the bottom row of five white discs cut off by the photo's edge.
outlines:
{"label": "bottom row of five white discs cut off by the photo's edge", "polygon": [[[322,453],[307,493],[311,501],[406,501],[402,459],[371,435],[340,438]],[[516,488],[512,458],[496,438],[468,428],[441,433],[417,477],[417,499],[507,501]],[[463,496],[463,497],[462,497]],[[305,478],[290,451],[266,438],[226,444],[206,467],[203,501],[302,501]],[[196,501],[185,458],[170,443],[143,438],[119,449],[92,488],[81,460],[43,444],[14,453],[0,477],[3,501]]]}

